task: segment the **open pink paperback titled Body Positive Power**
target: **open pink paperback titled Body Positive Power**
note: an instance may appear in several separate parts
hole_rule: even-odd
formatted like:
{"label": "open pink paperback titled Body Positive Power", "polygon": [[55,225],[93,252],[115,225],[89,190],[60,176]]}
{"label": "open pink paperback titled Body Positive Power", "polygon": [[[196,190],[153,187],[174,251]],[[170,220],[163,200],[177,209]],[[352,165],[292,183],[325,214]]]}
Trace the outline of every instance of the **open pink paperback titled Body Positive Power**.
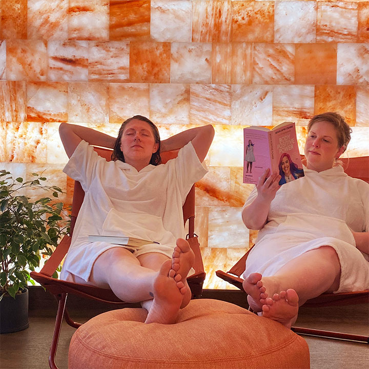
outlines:
{"label": "open pink paperback titled Body Positive Power", "polygon": [[243,147],[243,183],[256,185],[267,168],[280,174],[279,185],[304,176],[294,122],[244,128]]}

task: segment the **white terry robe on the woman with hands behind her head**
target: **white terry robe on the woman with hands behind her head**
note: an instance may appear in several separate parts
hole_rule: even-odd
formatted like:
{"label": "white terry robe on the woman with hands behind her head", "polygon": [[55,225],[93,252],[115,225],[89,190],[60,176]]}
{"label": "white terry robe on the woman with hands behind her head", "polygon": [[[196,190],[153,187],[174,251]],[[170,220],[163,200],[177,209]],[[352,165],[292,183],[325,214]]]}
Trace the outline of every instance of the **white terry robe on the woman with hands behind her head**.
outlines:
{"label": "white terry robe on the woman with hands behind her head", "polygon": [[184,238],[182,205],[193,183],[207,169],[191,142],[178,157],[158,166],[137,170],[122,161],[106,161],[82,140],[64,172],[79,181],[85,198],[79,210],[72,242],[60,274],[88,281],[93,263],[106,250],[119,247],[108,242],[88,242],[88,235],[119,235],[159,242],[144,251],[171,257],[177,238]]}

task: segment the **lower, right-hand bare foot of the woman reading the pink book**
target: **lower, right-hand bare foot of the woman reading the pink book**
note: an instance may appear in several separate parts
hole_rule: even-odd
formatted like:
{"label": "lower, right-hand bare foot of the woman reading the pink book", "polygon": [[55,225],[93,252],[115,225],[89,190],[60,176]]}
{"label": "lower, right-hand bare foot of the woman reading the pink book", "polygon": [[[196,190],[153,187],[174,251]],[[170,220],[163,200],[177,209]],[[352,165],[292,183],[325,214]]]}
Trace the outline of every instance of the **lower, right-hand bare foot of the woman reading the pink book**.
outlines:
{"label": "lower, right-hand bare foot of the woman reading the pink book", "polygon": [[298,313],[298,295],[295,290],[289,289],[267,298],[262,306],[262,316],[276,320],[284,326],[291,328]]}

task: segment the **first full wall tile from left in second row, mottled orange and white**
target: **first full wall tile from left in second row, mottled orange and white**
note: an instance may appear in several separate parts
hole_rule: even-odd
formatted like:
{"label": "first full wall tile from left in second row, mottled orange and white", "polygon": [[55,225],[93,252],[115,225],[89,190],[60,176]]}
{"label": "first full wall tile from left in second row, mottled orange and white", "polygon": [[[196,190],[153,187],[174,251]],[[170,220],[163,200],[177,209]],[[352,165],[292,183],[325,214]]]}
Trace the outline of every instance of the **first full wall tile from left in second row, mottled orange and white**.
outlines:
{"label": "first full wall tile from left in second row, mottled orange and white", "polygon": [[8,80],[46,80],[47,65],[46,41],[7,40]]}

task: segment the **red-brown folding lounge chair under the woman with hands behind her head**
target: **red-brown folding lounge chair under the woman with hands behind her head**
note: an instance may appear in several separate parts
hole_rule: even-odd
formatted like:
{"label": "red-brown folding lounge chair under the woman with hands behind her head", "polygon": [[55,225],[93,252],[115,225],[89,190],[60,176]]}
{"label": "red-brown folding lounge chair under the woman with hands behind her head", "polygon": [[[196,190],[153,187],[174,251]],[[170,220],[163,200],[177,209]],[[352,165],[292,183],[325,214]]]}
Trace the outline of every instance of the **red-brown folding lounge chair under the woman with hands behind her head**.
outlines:
{"label": "red-brown folding lounge chair under the woman with hands behind her head", "polygon": [[[112,151],[104,148],[94,148],[94,150],[102,157],[105,157],[107,160],[110,160],[110,156]],[[178,150],[165,152],[161,154],[163,162],[168,161],[169,159],[175,158],[177,156]],[[50,256],[50,258],[45,263],[43,269],[40,272],[31,272],[31,277],[40,283],[48,292],[54,295],[55,299],[58,302],[58,308],[55,319],[54,333],[51,340],[50,345],[50,353],[49,353],[49,366],[51,369],[58,369],[55,363],[55,355],[57,350],[57,345],[59,341],[59,335],[61,330],[61,323],[63,322],[63,318],[65,321],[74,328],[78,328],[81,323],[75,322],[71,319],[67,307],[66,301],[68,294],[78,295],[81,297],[86,297],[89,299],[107,302],[110,304],[120,305],[121,307],[130,306],[132,303],[121,301],[117,298],[111,290],[97,288],[95,286],[79,284],[68,282],[65,280],[60,280],[56,278],[52,278],[52,275],[60,265],[61,261],[66,256],[68,249],[71,243],[71,237],[73,234],[74,225],[77,219],[77,215],[81,204],[84,199],[84,191],[79,182],[74,182],[74,193],[73,193],[73,202],[72,202],[72,214],[71,214],[71,226],[70,226],[70,235],[66,235],[58,244],[57,248]],[[188,235],[187,240],[190,243],[191,249],[195,253],[195,262],[193,268],[195,273],[187,278],[189,283],[192,297],[197,297],[202,294],[202,285],[206,277],[206,273],[204,272],[198,237],[194,233],[194,224],[195,224],[195,185],[192,186],[189,194],[187,195],[186,201],[182,207],[183,210],[183,219],[186,222],[188,221]]]}

